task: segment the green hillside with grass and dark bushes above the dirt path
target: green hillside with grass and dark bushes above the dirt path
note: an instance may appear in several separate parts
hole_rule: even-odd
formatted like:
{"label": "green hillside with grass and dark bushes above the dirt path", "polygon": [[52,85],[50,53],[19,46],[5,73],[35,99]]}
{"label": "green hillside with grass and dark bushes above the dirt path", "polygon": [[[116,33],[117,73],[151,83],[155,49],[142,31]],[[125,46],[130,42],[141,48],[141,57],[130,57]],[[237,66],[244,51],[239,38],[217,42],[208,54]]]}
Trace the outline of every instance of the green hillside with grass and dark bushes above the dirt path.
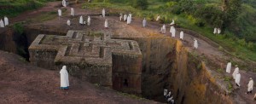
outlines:
{"label": "green hillside with grass and dark bushes above the dirt path", "polygon": [[[84,3],[85,9],[111,9],[111,14],[131,12],[137,17],[171,23],[193,30],[220,44],[220,50],[244,60],[256,61],[256,2],[253,0],[148,0],[148,8],[135,7],[140,0],[94,0]],[[222,34],[214,35],[213,28],[222,28]]]}

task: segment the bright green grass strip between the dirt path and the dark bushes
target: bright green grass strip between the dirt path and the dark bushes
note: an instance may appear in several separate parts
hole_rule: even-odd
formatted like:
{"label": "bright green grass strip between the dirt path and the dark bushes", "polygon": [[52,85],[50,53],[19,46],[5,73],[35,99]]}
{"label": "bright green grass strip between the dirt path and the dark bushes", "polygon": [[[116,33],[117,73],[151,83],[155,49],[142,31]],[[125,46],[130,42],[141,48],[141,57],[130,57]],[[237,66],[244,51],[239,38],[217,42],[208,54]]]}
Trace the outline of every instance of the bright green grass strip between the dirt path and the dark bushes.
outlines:
{"label": "bright green grass strip between the dirt path and the dark bushes", "polygon": [[[194,30],[195,32],[200,33],[201,35],[212,39],[212,41],[219,43],[222,48],[227,49],[228,51],[230,51],[230,54],[232,55],[236,55],[237,57],[244,59],[244,60],[252,60],[252,61],[256,61],[256,52],[251,50],[253,48],[255,48],[255,43],[253,46],[251,46],[250,48],[248,48],[248,43],[246,43],[243,39],[239,39],[234,37],[234,34],[230,33],[230,32],[225,32],[224,35],[213,35],[213,29],[211,26],[205,25],[204,27],[199,27],[195,25],[195,21],[197,20],[195,17],[191,16],[191,15],[187,15],[187,14],[172,14],[171,12],[168,12],[170,10],[168,9],[163,9],[162,7],[164,5],[166,5],[166,3],[163,2],[159,2],[159,0],[148,0],[148,9],[147,10],[139,10],[139,9],[134,9],[129,5],[129,2],[124,0],[124,1],[116,1],[116,0],[112,0],[114,1],[113,3],[85,3],[84,4],[84,8],[87,9],[102,9],[102,8],[107,8],[107,9],[112,9],[111,12],[113,13],[124,13],[125,12],[132,12],[133,15],[136,15],[138,17],[146,17],[148,20],[154,20],[157,14],[161,15],[161,18],[165,18],[165,20],[163,22],[165,23],[171,23],[171,20],[174,19],[176,20],[176,23],[178,26],[181,26],[183,28],[187,28],[190,30]],[[199,1],[199,0],[198,0]],[[201,3],[205,3],[205,4],[212,4],[212,5],[219,5],[220,1],[216,1],[216,0],[209,0],[207,2],[202,1]],[[244,10],[249,10],[251,12],[251,14],[254,14],[255,10],[253,7],[249,6],[248,4],[243,4],[242,5],[242,11]],[[247,26],[247,32],[254,32],[254,25],[256,21],[253,20],[248,20],[246,17],[248,17],[247,15],[250,14],[246,14],[244,12],[242,12],[239,17],[238,20],[240,20],[241,22],[239,22],[241,24],[241,26]],[[250,15],[249,17],[251,17],[253,19],[253,16]],[[244,25],[245,21],[247,20],[247,25]],[[251,22],[253,21],[253,23]],[[254,34],[253,34],[254,35]],[[251,36],[253,36],[251,35]],[[255,36],[253,36],[253,38],[256,38]],[[250,43],[253,44],[253,43]],[[219,49],[222,49],[219,48]]]}

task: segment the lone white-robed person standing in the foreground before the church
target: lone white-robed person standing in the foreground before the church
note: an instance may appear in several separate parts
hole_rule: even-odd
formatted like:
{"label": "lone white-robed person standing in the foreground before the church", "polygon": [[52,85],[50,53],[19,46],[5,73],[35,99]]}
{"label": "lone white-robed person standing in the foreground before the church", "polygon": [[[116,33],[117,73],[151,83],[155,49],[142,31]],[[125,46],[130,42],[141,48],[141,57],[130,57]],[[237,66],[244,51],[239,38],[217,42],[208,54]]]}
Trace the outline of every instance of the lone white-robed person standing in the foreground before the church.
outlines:
{"label": "lone white-robed person standing in the foreground before the church", "polygon": [[61,74],[61,89],[68,90],[69,80],[68,80],[67,66],[62,66],[60,74]]}

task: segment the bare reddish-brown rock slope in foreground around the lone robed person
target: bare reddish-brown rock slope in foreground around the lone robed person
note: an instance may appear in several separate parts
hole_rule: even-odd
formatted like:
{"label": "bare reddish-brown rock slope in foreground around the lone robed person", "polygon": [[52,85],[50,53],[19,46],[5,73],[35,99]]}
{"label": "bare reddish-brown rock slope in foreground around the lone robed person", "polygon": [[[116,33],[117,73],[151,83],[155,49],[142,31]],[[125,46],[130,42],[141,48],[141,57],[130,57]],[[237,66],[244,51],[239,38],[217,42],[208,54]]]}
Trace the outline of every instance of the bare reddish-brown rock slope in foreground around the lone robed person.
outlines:
{"label": "bare reddish-brown rock slope in foreground around the lone robed person", "polygon": [[125,96],[78,78],[69,77],[70,89],[61,90],[59,71],[30,65],[22,57],[0,50],[0,103],[158,103]]}

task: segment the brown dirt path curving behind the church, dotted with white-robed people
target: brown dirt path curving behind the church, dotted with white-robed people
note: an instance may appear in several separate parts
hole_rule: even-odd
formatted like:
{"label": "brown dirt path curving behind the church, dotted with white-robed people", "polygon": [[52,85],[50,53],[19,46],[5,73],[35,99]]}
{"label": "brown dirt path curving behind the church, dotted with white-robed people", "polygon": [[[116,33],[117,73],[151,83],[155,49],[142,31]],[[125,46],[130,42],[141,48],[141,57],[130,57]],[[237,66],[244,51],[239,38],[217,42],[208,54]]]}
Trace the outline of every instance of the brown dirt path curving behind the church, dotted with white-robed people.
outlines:
{"label": "brown dirt path curving behind the church, dotted with white-robed people", "polygon": [[[36,11],[26,12],[24,14],[20,14],[19,16],[11,19],[12,21],[20,21],[26,20],[27,18],[35,18],[38,14],[42,12],[52,11],[58,9],[58,3],[48,3],[46,7],[42,9],[38,9]],[[79,25],[79,16],[83,15],[84,20],[87,19],[87,15],[92,14],[100,14],[101,10],[91,11],[88,9],[81,9],[81,5],[73,5],[75,9],[76,16],[71,17],[70,7],[67,7],[67,11],[63,13],[63,16],[60,18],[55,18],[54,20],[44,21],[43,23],[33,23],[32,26],[35,28],[41,28],[44,26],[45,30],[57,31],[57,32],[67,32],[68,30],[87,30],[87,31],[102,31],[102,32],[111,32],[113,36],[118,37],[128,37],[128,38],[140,38],[140,37],[170,37],[171,33],[169,32],[170,26],[166,26],[166,34],[160,34],[160,26],[161,24],[157,22],[148,21],[147,27],[142,27],[142,19],[133,18],[131,25],[127,25],[124,21],[119,21],[119,17],[116,16],[108,16],[106,18],[102,18],[99,15],[91,16],[91,26],[80,26]],[[62,8],[63,9],[63,8]],[[108,10],[107,10],[108,12]],[[57,14],[56,14],[57,16]],[[105,29],[103,27],[104,20],[108,19],[109,28]],[[67,26],[67,20],[71,20],[72,26]],[[213,35],[213,34],[212,34]],[[179,38],[179,32],[176,32],[176,37]],[[195,36],[189,35],[184,32],[184,40],[183,44],[189,48],[189,51],[194,51],[198,55],[204,55],[207,57],[210,63],[207,66],[211,66],[211,63],[214,63],[214,67],[212,68],[224,68],[227,63],[227,59],[230,59],[230,55],[225,54],[222,51],[219,51],[218,48],[212,46],[209,42],[205,41],[201,38],[196,38],[199,42],[199,48],[193,50],[193,38]],[[236,58],[232,58],[236,61],[241,61]],[[233,66],[233,65],[232,65]],[[234,71],[235,67],[232,67],[231,73]],[[212,69],[217,70],[217,69]],[[224,71],[225,72],[225,71]],[[241,71],[241,87],[239,90],[235,90],[235,97],[237,101],[246,101],[247,103],[255,103],[252,101],[253,95],[246,95],[247,91],[247,83],[248,79],[252,77],[254,81],[256,81],[256,74],[253,72],[245,72]],[[220,76],[230,76],[231,74],[219,74]],[[233,86],[235,86],[235,81],[231,81]],[[236,87],[235,87],[236,88]],[[256,90],[256,88],[253,88]],[[253,94],[255,91],[253,90]]]}

